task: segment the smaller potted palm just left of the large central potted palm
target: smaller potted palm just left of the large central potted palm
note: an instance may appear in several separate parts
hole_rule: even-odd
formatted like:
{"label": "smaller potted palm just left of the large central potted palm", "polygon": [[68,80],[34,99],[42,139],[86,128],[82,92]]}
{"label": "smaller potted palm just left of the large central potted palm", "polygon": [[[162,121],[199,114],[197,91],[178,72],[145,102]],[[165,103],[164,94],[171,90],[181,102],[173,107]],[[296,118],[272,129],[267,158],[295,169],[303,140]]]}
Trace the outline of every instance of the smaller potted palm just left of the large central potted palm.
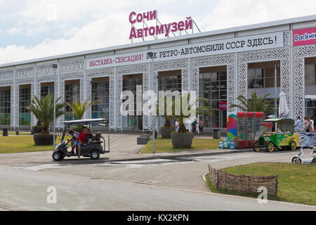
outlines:
{"label": "smaller potted palm just left of the large central potted palm", "polygon": [[[175,127],[172,127],[170,124],[170,120],[172,119],[172,115],[168,115],[168,108],[173,109],[173,101],[168,102],[167,97],[164,97],[164,105],[159,105],[159,102],[157,103],[157,115],[164,117],[164,127],[160,127],[161,133],[162,133],[162,138],[164,139],[171,139],[171,132],[176,131]],[[161,110],[160,110],[161,109]],[[160,111],[163,111],[164,113],[162,114]]]}

